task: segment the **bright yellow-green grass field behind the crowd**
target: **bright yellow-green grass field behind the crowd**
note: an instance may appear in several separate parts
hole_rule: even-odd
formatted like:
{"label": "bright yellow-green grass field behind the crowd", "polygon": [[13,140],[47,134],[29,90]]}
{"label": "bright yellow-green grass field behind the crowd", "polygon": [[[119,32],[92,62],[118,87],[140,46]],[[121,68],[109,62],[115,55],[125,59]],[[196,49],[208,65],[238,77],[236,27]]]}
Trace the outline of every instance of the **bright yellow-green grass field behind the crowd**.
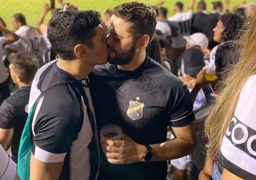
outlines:
{"label": "bright yellow-green grass field behind the crowd", "polygon": [[[67,2],[77,4],[80,10],[96,10],[101,14],[104,13],[108,8],[113,8],[118,4],[128,2],[127,0],[66,0]],[[140,0],[140,2],[144,2],[150,5],[155,5],[161,0]],[[188,9],[190,0],[166,0],[162,5],[169,9],[169,16],[174,14],[174,4],[177,1],[181,1],[184,3],[185,10]],[[198,3],[200,0],[196,0]],[[205,0],[207,2],[207,10],[209,12],[212,11],[213,7],[211,2],[217,0]],[[244,0],[230,0],[231,5],[230,9],[237,4],[242,3]],[[36,22],[42,12],[42,5],[44,2],[50,3],[50,0],[0,0],[0,17],[2,17],[8,28],[13,29],[11,26],[11,16],[15,13],[23,13],[26,16],[27,24],[35,26]],[[224,0],[223,0],[224,2]],[[249,2],[256,2],[256,0],[246,0]],[[60,8],[56,3],[56,7]],[[196,6],[195,6],[196,7]],[[47,23],[50,19],[50,13],[46,16],[45,22]]]}

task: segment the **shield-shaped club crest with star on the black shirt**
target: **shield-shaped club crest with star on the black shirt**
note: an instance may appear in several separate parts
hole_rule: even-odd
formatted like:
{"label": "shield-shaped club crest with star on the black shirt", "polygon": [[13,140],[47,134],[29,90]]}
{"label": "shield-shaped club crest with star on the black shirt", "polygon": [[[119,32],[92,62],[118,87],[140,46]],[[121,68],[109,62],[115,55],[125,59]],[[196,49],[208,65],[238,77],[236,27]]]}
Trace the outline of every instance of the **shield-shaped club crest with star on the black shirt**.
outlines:
{"label": "shield-shaped club crest with star on the black shirt", "polygon": [[143,117],[144,103],[140,103],[140,97],[136,97],[137,101],[129,101],[129,107],[127,109],[127,116],[132,120],[137,120]]}

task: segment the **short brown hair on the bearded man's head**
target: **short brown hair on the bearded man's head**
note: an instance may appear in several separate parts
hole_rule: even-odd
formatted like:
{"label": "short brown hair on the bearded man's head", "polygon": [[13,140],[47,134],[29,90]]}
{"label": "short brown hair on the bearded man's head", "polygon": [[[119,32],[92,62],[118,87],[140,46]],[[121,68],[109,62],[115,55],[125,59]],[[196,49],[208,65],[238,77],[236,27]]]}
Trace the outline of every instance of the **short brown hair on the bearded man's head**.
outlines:
{"label": "short brown hair on the bearded man's head", "polygon": [[113,15],[132,23],[129,31],[133,34],[134,40],[149,35],[151,42],[155,33],[157,15],[150,5],[139,2],[124,3],[113,9]]}

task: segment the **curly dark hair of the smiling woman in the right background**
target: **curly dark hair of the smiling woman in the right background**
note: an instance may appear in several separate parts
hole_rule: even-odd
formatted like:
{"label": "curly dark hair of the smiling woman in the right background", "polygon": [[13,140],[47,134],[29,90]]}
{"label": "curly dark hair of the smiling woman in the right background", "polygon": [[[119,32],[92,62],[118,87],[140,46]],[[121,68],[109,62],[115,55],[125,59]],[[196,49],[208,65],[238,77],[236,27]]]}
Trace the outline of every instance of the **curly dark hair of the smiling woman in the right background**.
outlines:
{"label": "curly dark hair of the smiling woman in the right background", "polygon": [[222,15],[220,21],[224,25],[222,40],[224,42],[236,40],[243,27],[244,20],[239,15],[228,13]]}

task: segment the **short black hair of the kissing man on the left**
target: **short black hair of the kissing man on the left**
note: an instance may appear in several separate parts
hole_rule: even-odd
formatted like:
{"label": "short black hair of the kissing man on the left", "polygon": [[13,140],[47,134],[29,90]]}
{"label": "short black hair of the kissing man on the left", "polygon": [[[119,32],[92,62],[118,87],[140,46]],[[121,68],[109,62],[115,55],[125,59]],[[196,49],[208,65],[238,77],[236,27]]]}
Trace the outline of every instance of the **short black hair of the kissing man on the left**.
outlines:
{"label": "short black hair of the kissing man on the left", "polygon": [[47,38],[61,59],[73,60],[77,44],[93,46],[94,28],[100,23],[101,15],[96,11],[59,12],[49,21]]}

